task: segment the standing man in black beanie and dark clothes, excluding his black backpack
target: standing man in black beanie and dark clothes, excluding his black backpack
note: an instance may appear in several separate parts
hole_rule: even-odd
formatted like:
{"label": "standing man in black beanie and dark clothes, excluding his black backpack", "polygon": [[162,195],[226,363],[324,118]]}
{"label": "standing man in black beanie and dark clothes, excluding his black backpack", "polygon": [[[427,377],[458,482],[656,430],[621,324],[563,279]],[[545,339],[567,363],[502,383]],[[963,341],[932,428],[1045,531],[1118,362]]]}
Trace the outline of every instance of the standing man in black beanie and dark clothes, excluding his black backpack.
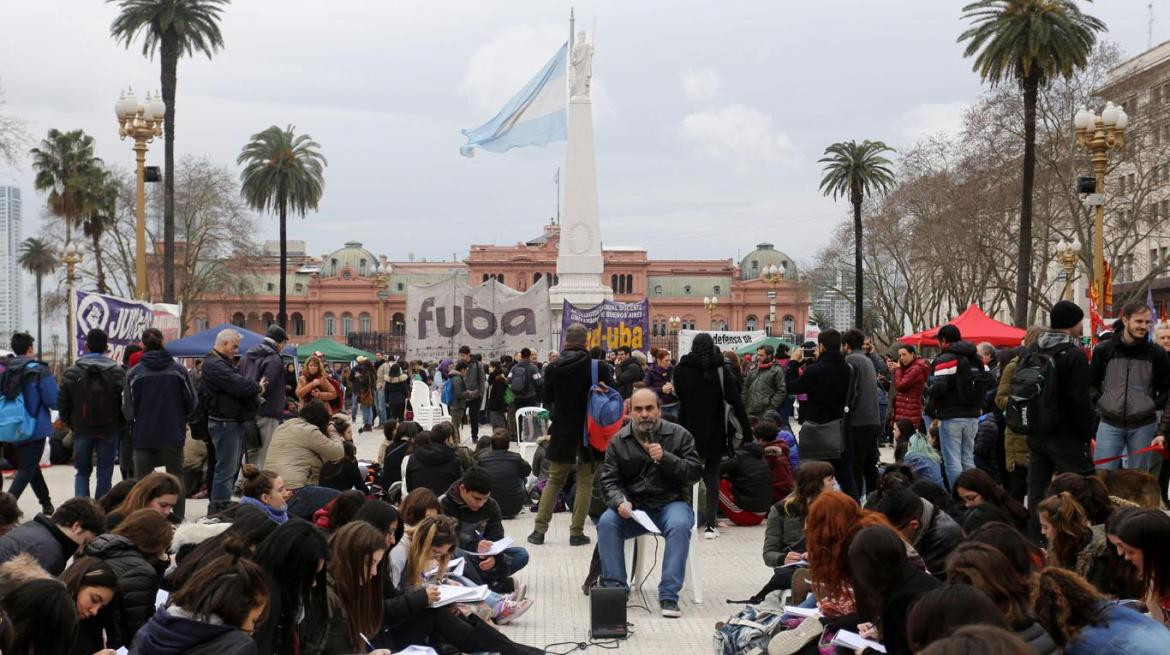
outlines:
{"label": "standing man in black beanie and dark clothes, excluding his black backpack", "polygon": [[[1057,405],[1059,419],[1049,434],[1027,435],[1027,506],[1034,508],[1044,499],[1053,474],[1093,473],[1093,402],[1089,398],[1092,371],[1085,351],[1080,349],[1081,324],[1085,311],[1075,303],[1060,301],[1048,313],[1049,329],[1045,330],[1032,349],[1052,357],[1057,371]],[[1024,356],[1020,358],[1023,364]],[[1040,537],[1040,523],[1032,512],[1028,532]]]}

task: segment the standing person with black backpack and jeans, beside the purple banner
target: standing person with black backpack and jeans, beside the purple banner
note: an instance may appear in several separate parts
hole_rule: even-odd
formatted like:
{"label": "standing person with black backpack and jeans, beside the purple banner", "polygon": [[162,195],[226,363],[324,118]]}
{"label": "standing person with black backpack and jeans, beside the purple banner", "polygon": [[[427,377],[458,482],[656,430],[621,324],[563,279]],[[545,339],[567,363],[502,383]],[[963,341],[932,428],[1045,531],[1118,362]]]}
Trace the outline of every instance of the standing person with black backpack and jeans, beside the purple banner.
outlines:
{"label": "standing person with black backpack and jeans, beside the purple banner", "polygon": [[97,485],[94,497],[110,490],[113,460],[125,420],[122,415],[122,386],[126,373],[105,356],[109,337],[101,328],[85,335],[85,354],[66,368],[57,398],[61,421],[74,433],[74,496],[89,498],[89,476],[97,451]]}

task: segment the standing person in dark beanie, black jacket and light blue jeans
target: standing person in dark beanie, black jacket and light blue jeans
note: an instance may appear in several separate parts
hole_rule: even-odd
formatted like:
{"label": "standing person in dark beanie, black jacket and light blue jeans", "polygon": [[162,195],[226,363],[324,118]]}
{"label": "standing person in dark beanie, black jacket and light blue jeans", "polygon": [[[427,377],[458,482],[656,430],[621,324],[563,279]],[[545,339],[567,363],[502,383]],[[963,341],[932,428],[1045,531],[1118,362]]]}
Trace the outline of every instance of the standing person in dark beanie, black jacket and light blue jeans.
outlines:
{"label": "standing person in dark beanie, black jacket and light blue jeans", "polygon": [[975,468],[975,433],[991,382],[978,351],[963,340],[958,328],[943,325],[937,338],[942,354],[935,358],[927,386],[927,413],[938,419],[943,471],[954,489],[958,474]]}

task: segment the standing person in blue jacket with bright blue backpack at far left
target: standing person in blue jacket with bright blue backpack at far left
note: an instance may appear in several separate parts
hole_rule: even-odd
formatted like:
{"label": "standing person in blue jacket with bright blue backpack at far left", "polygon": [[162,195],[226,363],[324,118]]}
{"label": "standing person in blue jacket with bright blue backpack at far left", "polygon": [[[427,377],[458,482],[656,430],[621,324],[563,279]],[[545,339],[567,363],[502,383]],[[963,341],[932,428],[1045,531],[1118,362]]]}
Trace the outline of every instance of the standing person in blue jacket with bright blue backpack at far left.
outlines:
{"label": "standing person in blue jacket with bright blue backpack at far left", "polygon": [[[33,492],[41,503],[41,511],[51,515],[53,501],[49,498],[49,485],[44,483],[44,475],[41,473],[41,455],[44,454],[44,440],[53,434],[49,411],[57,406],[57,381],[48,366],[34,359],[32,335],[16,332],[12,336],[11,345],[12,352],[16,354],[4,361],[5,371],[0,377],[6,400],[4,405],[5,408],[11,407],[13,413],[22,411],[22,420],[29,416],[35,421],[29,434],[22,434],[13,442],[18,464],[16,476],[13,477],[8,492],[20,498],[25,487],[32,484]],[[21,402],[12,404],[16,399],[21,399]],[[6,422],[4,436],[8,436],[7,427]]]}

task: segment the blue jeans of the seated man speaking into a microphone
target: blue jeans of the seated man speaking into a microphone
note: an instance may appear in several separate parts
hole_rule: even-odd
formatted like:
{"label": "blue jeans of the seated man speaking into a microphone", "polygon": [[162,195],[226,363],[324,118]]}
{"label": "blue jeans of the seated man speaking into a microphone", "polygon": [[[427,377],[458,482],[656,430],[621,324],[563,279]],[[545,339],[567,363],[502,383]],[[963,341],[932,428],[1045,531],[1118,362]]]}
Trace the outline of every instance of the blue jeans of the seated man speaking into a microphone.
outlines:
{"label": "blue jeans of the seated man speaking into a microphone", "polygon": [[[662,531],[666,549],[662,554],[662,579],[659,582],[659,600],[679,600],[683,577],[687,574],[687,551],[690,547],[690,528],[695,513],[682,501],[667,503],[662,509],[645,510],[654,525]],[[646,533],[646,529],[632,518],[621,518],[617,510],[607,509],[597,522],[597,547],[601,554],[601,575],[626,581],[626,553],[622,544]]]}

